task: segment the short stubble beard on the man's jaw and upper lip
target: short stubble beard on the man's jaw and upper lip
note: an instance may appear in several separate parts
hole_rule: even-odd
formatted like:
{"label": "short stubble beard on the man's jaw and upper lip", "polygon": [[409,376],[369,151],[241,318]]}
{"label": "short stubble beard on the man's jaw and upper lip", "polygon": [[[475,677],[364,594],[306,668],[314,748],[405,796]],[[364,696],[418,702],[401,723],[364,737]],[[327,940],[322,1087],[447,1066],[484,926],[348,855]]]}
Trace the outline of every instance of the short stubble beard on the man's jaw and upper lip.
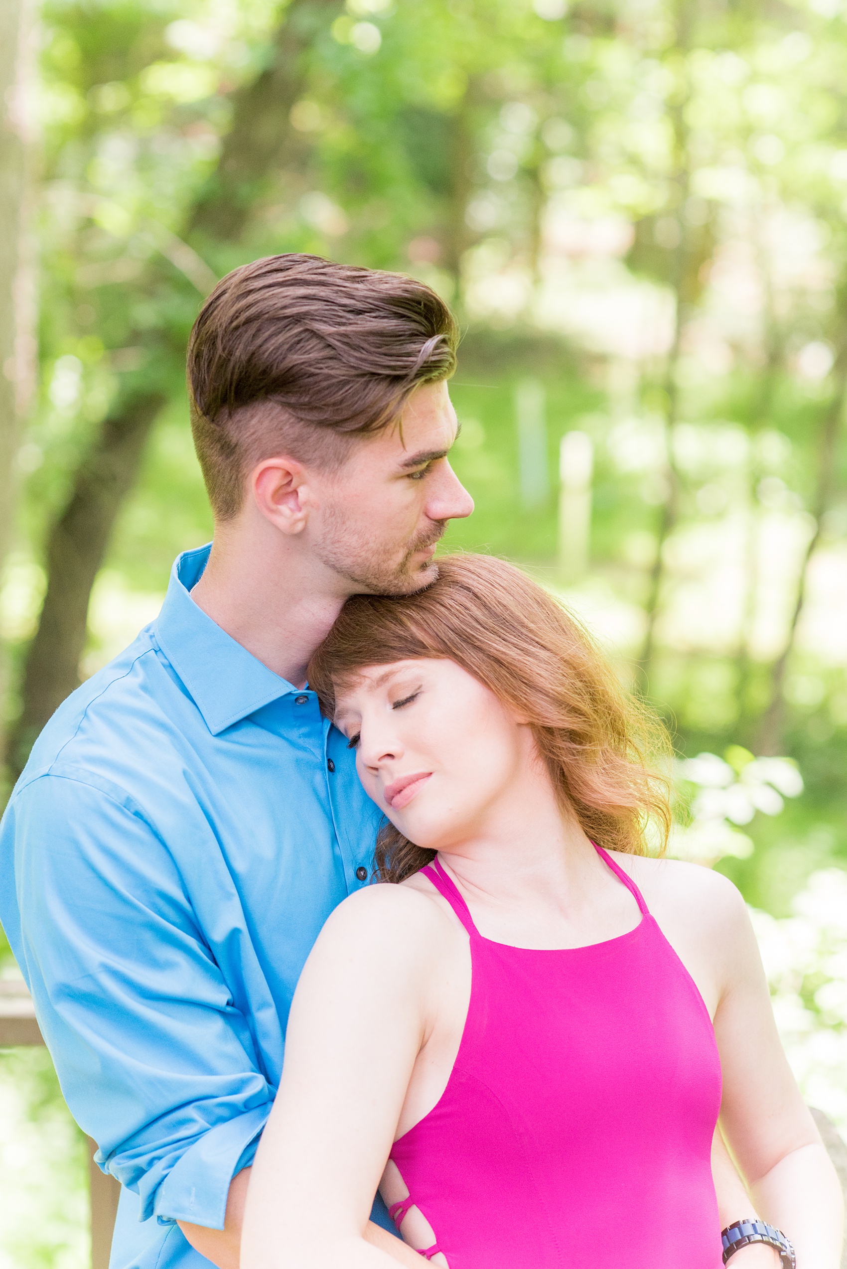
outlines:
{"label": "short stubble beard on the man's jaw and upper lip", "polygon": [[333,511],[326,519],[326,533],[315,546],[315,555],[333,572],[353,582],[352,594],[411,595],[438,576],[434,560],[419,565],[411,561],[418,551],[443,537],[444,520],[434,520],[413,538],[397,561],[395,548],[370,541],[358,527],[352,528],[343,513]]}

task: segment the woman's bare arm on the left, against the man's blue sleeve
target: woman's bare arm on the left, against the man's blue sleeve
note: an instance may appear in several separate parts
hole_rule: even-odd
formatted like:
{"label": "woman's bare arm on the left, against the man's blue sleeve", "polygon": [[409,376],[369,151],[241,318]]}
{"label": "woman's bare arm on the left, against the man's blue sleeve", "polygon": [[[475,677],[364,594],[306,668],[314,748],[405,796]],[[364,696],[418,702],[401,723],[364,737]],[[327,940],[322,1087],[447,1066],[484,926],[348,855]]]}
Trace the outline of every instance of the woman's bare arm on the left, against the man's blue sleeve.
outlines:
{"label": "woman's bare arm on the left, against the man's blue sleeve", "polygon": [[395,1255],[366,1231],[450,934],[437,905],[396,886],[361,891],[324,926],[250,1178],[245,1269],[424,1269],[411,1249],[397,1242]]}

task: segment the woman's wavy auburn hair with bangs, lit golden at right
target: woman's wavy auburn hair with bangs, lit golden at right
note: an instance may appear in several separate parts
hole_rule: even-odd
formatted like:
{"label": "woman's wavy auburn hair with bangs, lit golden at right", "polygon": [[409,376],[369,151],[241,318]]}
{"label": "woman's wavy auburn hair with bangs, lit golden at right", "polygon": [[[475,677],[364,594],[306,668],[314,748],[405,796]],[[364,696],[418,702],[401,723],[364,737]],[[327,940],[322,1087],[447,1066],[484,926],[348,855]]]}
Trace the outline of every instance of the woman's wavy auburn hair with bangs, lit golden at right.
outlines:
{"label": "woman's wavy auburn hair with bangs, lit golden at right", "polygon": [[[667,732],[582,623],[524,572],[491,556],[442,556],[424,590],[353,595],[312,656],[309,683],[331,718],[338,689],[367,666],[419,657],[455,661],[527,720],[563,811],[592,841],[645,854],[651,821],[664,846],[669,789],[657,765],[669,754]],[[434,855],[386,822],[375,876],[404,881]]]}

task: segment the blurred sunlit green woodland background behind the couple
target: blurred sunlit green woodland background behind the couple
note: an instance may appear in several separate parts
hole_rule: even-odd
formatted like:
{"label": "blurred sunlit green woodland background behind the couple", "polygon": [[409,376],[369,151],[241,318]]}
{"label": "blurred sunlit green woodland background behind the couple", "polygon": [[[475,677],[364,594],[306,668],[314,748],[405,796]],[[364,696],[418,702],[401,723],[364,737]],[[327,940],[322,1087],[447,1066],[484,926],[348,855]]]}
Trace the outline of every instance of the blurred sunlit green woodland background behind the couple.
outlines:
{"label": "blurred sunlit green woodland background behind the couple", "polygon": [[[801,773],[799,796],[773,777],[781,813],[704,810],[681,766],[681,815],[728,827],[687,853],[782,948],[795,1067],[843,1123],[841,0],[5,5],[29,32],[0,151],[6,793],[211,534],[184,346],[216,278],[279,251],[411,273],[464,330],[455,466],[477,509],[447,546],[563,594],[681,759],[728,758],[706,784],[761,788],[762,755]],[[0,1269],[76,1265],[75,1237],[0,1227]]]}

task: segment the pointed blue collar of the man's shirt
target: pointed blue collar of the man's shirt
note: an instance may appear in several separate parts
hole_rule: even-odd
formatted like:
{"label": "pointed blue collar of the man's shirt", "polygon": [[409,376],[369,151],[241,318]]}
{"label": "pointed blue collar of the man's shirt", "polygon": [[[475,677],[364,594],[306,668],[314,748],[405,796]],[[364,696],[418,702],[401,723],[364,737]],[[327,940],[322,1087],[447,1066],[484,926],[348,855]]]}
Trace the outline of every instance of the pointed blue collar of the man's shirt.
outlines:
{"label": "pointed blue collar of the man's shirt", "polygon": [[297,689],[258,661],[192,599],[211,543],[174,561],[168,594],[156,618],[156,642],[188,688],[206,726],[217,736],[254,709]]}

